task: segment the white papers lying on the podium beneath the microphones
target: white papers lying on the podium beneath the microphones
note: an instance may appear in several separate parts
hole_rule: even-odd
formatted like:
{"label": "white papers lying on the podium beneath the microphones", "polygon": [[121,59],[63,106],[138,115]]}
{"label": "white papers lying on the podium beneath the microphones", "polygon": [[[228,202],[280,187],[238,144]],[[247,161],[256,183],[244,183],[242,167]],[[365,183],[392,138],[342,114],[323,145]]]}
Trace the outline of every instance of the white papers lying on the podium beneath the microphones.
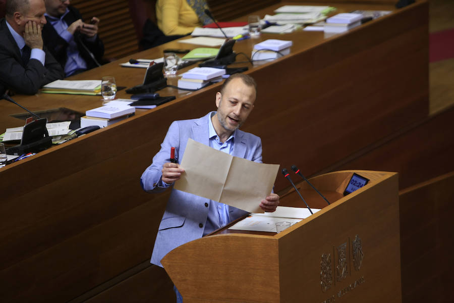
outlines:
{"label": "white papers lying on the podium beneath the microphones", "polygon": [[[319,209],[312,209],[314,214],[318,211]],[[229,227],[229,229],[276,232],[277,222],[285,221],[294,225],[310,215],[311,213],[307,208],[278,206],[273,213],[253,213],[249,217]]]}

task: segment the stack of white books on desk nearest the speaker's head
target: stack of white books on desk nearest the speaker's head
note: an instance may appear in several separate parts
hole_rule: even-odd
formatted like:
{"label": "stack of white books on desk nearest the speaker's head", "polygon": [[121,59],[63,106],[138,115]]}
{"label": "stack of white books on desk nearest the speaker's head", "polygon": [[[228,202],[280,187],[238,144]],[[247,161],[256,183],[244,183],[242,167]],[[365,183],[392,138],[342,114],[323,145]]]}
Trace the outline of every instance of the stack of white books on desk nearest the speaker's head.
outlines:
{"label": "stack of white books on desk nearest the speaker's head", "polygon": [[220,68],[195,67],[181,75],[181,79],[178,80],[178,87],[199,89],[211,82],[221,81],[224,74],[225,70]]}

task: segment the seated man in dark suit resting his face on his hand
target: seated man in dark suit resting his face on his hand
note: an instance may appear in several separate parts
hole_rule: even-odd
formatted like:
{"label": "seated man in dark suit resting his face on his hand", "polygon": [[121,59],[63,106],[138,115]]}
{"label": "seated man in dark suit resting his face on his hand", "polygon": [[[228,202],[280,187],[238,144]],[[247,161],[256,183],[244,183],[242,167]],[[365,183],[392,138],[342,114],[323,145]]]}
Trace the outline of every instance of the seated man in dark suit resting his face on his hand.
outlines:
{"label": "seated man in dark suit resting his face on his hand", "polygon": [[43,0],[8,0],[6,18],[0,20],[0,95],[6,89],[34,94],[41,86],[65,76],[43,47],[44,12]]}

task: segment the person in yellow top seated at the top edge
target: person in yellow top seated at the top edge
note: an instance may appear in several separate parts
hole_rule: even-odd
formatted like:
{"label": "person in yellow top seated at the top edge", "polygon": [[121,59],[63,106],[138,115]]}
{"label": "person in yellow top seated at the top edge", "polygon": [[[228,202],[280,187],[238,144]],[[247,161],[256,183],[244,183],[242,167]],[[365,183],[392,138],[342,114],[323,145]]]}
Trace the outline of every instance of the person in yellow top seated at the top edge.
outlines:
{"label": "person in yellow top seated at the top edge", "polygon": [[166,36],[187,35],[195,27],[212,22],[205,9],[208,9],[205,0],[158,0],[157,26]]}

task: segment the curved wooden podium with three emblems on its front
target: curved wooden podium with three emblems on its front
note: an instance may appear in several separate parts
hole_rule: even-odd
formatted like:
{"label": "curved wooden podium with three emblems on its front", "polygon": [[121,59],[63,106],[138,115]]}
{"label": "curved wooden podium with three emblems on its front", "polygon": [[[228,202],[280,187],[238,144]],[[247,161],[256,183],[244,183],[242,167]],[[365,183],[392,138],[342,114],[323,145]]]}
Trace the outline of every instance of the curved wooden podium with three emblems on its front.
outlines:
{"label": "curved wooden podium with three emblems on its front", "polygon": [[[343,196],[353,172],[370,181]],[[279,234],[214,234],[169,252],[161,262],[184,302],[401,302],[398,174],[310,181],[340,198]]]}

